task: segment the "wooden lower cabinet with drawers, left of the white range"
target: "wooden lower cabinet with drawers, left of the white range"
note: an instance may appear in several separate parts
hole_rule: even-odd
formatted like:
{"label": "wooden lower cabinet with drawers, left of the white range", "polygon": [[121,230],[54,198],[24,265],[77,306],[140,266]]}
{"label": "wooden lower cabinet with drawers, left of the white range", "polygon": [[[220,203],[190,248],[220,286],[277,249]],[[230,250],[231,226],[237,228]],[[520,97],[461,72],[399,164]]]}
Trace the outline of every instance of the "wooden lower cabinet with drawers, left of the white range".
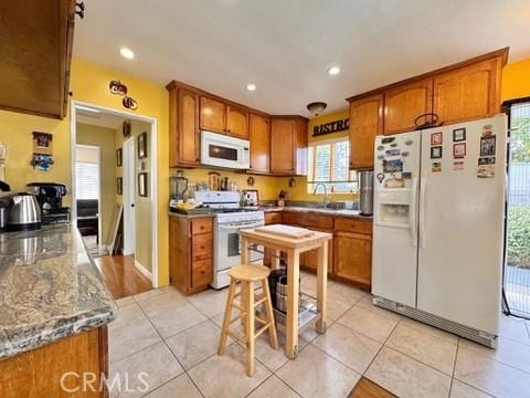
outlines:
{"label": "wooden lower cabinet with drawers, left of the white range", "polygon": [[171,284],[193,294],[213,281],[213,218],[169,217]]}

